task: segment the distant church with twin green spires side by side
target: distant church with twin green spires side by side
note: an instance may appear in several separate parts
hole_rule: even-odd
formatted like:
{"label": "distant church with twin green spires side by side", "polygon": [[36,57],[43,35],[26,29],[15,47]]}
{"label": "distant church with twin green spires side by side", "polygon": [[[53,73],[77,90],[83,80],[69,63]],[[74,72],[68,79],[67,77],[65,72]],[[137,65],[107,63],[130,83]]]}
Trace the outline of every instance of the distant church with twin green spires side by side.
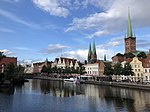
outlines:
{"label": "distant church with twin green spires side by side", "polygon": [[88,52],[88,63],[96,63],[97,61],[97,54],[96,54],[96,47],[95,42],[93,42],[93,45],[89,45],[89,52]]}

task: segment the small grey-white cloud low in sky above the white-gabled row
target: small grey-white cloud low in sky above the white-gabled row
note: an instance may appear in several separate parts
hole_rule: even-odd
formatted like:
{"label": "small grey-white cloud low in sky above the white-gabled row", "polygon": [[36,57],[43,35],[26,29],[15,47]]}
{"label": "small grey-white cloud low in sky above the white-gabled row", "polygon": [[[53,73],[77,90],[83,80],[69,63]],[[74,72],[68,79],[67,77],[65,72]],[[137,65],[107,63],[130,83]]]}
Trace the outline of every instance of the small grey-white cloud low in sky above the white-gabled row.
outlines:
{"label": "small grey-white cloud low in sky above the white-gabled row", "polygon": [[68,46],[61,44],[50,44],[48,48],[43,49],[41,52],[44,54],[60,53],[66,48],[68,48]]}

